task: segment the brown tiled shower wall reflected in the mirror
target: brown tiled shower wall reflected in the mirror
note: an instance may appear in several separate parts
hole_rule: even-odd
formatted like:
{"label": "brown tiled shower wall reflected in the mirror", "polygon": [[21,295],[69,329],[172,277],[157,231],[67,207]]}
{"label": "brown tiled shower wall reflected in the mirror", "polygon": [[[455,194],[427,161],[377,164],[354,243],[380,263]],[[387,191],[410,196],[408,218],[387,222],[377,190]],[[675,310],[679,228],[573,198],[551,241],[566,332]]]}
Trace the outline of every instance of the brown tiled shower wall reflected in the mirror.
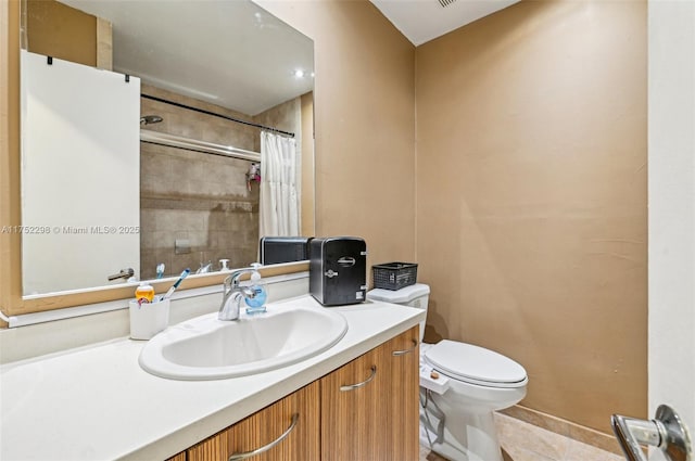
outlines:
{"label": "brown tiled shower wall reflected in the mirror", "polygon": [[[143,86],[142,92],[254,121],[159,88]],[[260,133],[253,127],[147,99],[141,100],[141,114],[163,117],[147,129],[258,151]],[[173,276],[207,264],[217,270],[219,259],[229,259],[230,267],[256,260],[258,184],[247,188],[249,162],[149,143],[140,143],[140,154],[141,278],[155,277],[161,262]],[[177,251],[177,241],[188,249]]]}

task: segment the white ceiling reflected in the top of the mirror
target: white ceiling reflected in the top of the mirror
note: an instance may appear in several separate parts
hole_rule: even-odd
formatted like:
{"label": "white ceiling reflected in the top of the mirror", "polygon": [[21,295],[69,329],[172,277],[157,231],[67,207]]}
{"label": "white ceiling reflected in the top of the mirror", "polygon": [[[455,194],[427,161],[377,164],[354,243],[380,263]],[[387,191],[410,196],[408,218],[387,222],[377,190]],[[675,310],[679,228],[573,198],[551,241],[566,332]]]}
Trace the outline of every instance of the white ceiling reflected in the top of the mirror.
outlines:
{"label": "white ceiling reflected in the top of the mirror", "polygon": [[61,1],[110,21],[114,71],[146,84],[248,115],[314,88],[314,42],[251,1]]}

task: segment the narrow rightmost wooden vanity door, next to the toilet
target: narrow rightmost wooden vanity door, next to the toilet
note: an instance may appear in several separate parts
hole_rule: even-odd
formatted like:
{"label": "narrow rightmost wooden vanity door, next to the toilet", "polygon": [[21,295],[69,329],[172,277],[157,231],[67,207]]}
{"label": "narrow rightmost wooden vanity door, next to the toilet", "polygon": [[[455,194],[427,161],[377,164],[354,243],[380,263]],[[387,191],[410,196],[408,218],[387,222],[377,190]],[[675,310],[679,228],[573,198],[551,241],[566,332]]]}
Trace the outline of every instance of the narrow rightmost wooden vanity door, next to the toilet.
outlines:
{"label": "narrow rightmost wooden vanity door, next to the toilet", "polygon": [[386,343],[380,351],[391,363],[388,458],[415,461],[419,456],[419,326]]}

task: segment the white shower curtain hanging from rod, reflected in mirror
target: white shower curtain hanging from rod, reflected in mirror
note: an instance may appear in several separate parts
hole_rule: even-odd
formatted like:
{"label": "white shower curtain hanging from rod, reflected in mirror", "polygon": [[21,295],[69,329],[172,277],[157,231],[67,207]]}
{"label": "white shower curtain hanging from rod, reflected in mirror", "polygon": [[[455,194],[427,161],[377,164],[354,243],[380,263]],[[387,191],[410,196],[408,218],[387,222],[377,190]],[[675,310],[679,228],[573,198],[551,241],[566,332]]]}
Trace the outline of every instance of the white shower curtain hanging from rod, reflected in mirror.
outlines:
{"label": "white shower curtain hanging from rod, reflected in mirror", "polygon": [[260,236],[300,235],[296,142],[261,132]]}

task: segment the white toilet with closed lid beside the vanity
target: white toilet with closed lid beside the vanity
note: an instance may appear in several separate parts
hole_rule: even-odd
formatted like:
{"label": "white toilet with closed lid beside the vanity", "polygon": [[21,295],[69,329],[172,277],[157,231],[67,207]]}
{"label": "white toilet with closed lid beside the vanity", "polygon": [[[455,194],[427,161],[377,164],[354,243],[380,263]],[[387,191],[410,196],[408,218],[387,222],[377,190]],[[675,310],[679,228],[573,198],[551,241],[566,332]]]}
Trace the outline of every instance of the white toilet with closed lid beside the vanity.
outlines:
{"label": "white toilet with closed lid beside the vanity", "polygon": [[[416,283],[371,290],[367,299],[427,311],[429,295]],[[420,343],[424,334],[420,322]],[[523,367],[492,350],[448,340],[421,344],[420,443],[452,461],[502,461],[493,411],[519,402],[528,381]]]}

